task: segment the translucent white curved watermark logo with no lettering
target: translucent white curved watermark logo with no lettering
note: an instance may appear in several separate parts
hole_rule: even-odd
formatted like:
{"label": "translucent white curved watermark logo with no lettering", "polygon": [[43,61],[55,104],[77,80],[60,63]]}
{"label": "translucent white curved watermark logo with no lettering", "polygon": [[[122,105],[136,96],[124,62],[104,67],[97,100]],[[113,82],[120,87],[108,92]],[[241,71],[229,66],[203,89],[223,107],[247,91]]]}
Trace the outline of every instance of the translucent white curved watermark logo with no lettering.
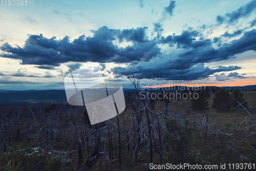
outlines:
{"label": "translucent white curved watermark logo with no lettering", "polygon": [[125,109],[121,83],[104,80],[99,63],[69,73],[64,83],[68,103],[85,105],[91,124],[111,119]]}

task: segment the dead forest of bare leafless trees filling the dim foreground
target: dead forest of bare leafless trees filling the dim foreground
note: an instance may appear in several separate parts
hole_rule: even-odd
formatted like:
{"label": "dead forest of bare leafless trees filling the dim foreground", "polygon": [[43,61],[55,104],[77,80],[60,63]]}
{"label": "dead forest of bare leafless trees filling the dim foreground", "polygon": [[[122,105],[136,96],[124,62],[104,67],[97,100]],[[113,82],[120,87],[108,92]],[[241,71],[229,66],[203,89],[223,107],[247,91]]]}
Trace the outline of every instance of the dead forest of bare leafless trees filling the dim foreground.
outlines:
{"label": "dead forest of bare leafless trees filling the dim foreground", "polygon": [[[139,80],[128,78],[136,93],[125,96],[126,109],[95,125],[84,106],[63,101],[1,104],[0,168],[150,170],[150,163],[255,163],[254,108],[221,113],[209,104],[199,112],[188,99],[141,99]],[[248,102],[254,104],[250,97]]]}

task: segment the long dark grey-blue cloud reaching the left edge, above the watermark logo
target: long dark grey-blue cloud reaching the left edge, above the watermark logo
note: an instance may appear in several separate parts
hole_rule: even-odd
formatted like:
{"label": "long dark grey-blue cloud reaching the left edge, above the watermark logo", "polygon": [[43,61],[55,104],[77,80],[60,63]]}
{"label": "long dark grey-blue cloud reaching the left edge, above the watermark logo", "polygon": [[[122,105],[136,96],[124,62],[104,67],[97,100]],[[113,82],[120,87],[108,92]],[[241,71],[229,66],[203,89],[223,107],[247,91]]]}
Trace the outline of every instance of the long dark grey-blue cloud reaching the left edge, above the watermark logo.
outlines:
{"label": "long dark grey-blue cloud reaching the left edge, above the watermark logo", "polygon": [[[132,62],[146,61],[160,54],[160,48],[153,40],[146,37],[146,27],[137,29],[108,29],[102,27],[93,31],[92,37],[84,35],[72,42],[66,36],[46,38],[40,35],[29,35],[25,46],[12,47],[5,43],[0,47],[5,54],[2,57],[21,59],[23,65],[59,66],[61,63],[73,62]],[[119,48],[113,40],[132,41],[134,45]]]}

